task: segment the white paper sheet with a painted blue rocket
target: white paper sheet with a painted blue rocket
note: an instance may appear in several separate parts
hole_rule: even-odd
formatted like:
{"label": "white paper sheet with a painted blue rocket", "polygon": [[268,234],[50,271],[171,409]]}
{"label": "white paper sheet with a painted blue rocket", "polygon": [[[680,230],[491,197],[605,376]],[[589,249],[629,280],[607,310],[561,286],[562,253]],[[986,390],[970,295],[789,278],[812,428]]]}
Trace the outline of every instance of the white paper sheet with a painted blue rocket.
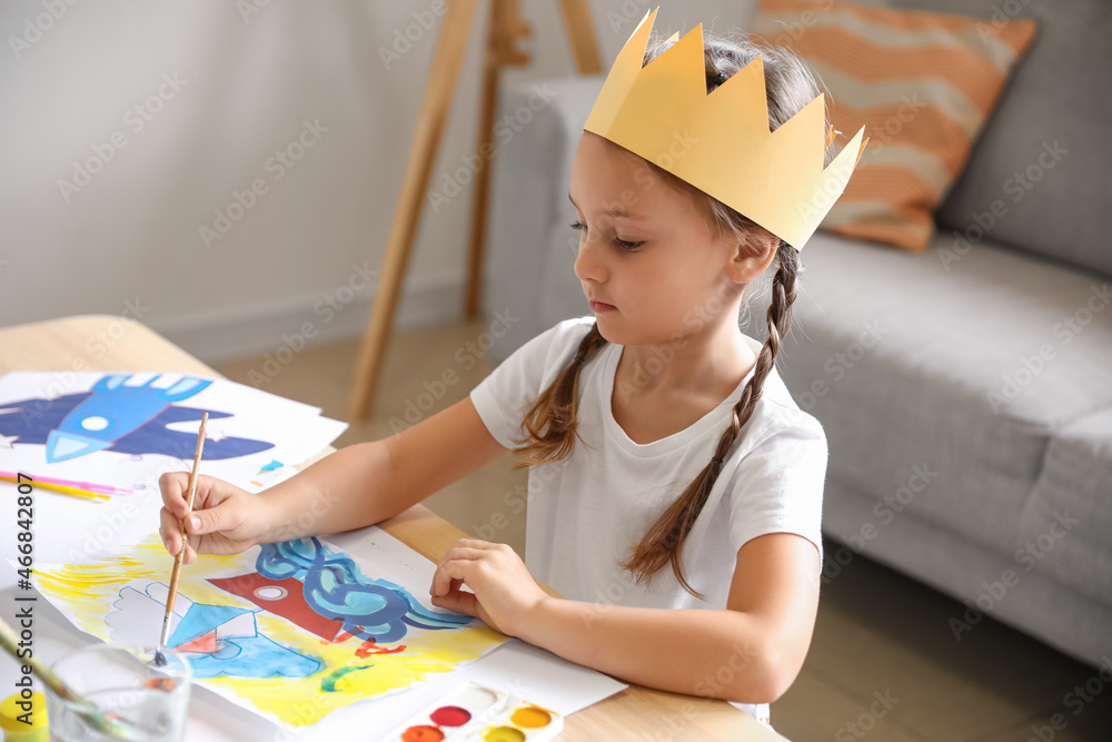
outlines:
{"label": "white paper sheet with a painted blue rocket", "polygon": [[318,407],[226,379],[10,372],[0,377],[0,469],[157,491],[163,472],[191,468],[203,412],[202,473],[249,492],[347,428]]}

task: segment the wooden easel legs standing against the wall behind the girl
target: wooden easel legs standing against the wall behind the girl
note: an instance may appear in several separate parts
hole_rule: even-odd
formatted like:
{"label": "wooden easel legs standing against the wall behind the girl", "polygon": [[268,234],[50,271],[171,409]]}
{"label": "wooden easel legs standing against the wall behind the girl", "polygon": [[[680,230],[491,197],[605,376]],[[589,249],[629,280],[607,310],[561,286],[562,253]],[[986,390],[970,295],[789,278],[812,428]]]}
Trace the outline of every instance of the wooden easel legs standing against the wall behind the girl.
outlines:
{"label": "wooden easel legs standing against the wall behind the girl", "polygon": [[[529,61],[528,55],[516,49],[517,42],[532,32],[520,18],[519,0],[489,1],[490,19],[483,62],[483,97],[476,152],[492,151],[494,146],[494,117],[500,68],[519,67]],[[394,313],[401,291],[401,280],[409,264],[409,253],[420,220],[424,195],[440,147],[459,70],[464,65],[476,2],[477,0],[448,0],[448,10],[441,21],[440,37],[436,42],[428,81],[425,83],[425,96],[417,115],[417,127],[409,148],[406,174],[394,210],[394,220],[390,224],[375,303],[370,309],[370,319],[356,362],[355,379],[348,402],[348,421],[351,423],[367,419],[374,404],[384,354],[394,326]],[[560,0],[560,10],[577,72],[579,75],[600,72],[602,60],[586,0]],[[467,287],[464,294],[464,314],[468,318],[477,317],[479,310],[489,171],[489,167],[480,168],[474,181],[475,199],[471,206]]]}

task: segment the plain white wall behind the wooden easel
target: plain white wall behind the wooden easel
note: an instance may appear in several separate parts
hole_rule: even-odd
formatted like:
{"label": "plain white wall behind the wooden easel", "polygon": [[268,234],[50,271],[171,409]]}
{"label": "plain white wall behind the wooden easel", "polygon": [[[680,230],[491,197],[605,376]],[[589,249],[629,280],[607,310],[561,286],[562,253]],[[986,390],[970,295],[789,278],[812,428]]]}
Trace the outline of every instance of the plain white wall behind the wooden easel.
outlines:
{"label": "plain white wall behind the wooden easel", "polygon": [[[353,266],[381,260],[440,3],[70,1],[0,4],[0,325],[138,314],[210,363],[272,350],[306,321],[315,342],[361,334],[374,284]],[[573,73],[557,3],[523,7],[533,63],[504,80]],[[592,7],[608,66],[655,4]],[[751,7],[674,1],[657,28],[728,31]],[[433,187],[475,150],[486,9]],[[417,40],[387,68],[380,50],[407,30]],[[272,158],[297,155],[306,121],[327,131],[305,133],[282,172]],[[200,229],[219,234],[216,210],[256,179],[266,192],[207,246]],[[458,315],[469,201],[425,209],[399,326]]]}

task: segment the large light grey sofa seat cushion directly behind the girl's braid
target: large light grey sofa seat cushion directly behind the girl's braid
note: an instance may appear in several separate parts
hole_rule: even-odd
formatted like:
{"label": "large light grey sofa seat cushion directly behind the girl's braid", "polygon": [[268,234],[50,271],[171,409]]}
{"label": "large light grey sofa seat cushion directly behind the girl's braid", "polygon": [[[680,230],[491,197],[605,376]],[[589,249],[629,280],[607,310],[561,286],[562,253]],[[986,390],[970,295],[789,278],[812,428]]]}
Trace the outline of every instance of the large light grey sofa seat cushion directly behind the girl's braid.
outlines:
{"label": "large light grey sofa seat cushion directly behind the girl's braid", "polygon": [[817,234],[777,366],[831,472],[888,501],[883,517],[914,511],[1011,555],[1051,441],[1112,407],[1112,291],[989,241],[946,249]]}

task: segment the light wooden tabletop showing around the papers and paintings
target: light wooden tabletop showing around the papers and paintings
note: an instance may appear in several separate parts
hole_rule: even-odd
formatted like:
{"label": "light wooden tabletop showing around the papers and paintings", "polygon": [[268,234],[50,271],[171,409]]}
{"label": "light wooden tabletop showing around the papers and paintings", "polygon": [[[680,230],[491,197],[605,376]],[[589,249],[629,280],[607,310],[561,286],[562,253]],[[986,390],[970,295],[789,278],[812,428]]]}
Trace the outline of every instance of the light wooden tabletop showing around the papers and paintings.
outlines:
{"label": "light wooden tabletop showing around the papers and paintings", "polygon": [[[0,374],[10,370],[165,372],[224,378],[145,325],[109,315],[0,329]],[[329,446],[301,466],[334,451]],[[466,535],[423,505],[379,526],[434,562]],[[784,740],[723,701],[637,685],[568,716],[560,739]]]}

